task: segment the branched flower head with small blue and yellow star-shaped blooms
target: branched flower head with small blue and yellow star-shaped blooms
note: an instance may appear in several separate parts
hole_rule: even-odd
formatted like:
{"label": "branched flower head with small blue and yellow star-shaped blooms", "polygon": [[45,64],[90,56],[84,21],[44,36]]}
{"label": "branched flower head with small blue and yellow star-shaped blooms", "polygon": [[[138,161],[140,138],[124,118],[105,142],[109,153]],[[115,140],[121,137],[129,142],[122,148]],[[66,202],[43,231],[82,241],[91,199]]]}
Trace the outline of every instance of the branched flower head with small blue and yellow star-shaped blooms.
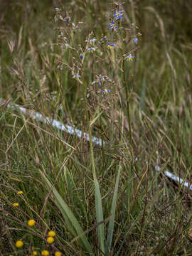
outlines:
{"label": "branched flower head with small blue and yellow star-shaped blooms", "polygon": [[102,35],[96,29],[90,31],[86,27],[86,30],[86,21],[75,24],[70,13],[55,9],[55,21],[61,22],[61,26],[56,28],[57,45],[61,50],[58,69],[68,73],[69,78],[76,81],[75,84],[86,86],[90,111],[95,110],[98,104],[108,109],[110,101],[107,98],[117,95],[117,71],[124,72],[124,61],[135,60],[141,34],[135,33],[137,27],[134,24],[126,28],[124,11],[120,7],[115,6],[112,10],[112,18],[106,23],[106,31]]}

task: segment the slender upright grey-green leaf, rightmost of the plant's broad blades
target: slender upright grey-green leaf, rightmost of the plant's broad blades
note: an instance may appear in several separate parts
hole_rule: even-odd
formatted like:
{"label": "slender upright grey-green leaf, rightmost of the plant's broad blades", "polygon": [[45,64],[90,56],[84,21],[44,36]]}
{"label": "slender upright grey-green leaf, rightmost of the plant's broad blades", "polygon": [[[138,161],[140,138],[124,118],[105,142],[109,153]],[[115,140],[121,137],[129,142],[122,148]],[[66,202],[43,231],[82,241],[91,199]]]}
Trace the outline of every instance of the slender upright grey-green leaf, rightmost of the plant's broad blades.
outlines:
{"label": "slender upright grey-green leaf, rightmost of the plant's broad blades", "polygon": [[120,171],[122,167],[119,165],[119,170],[117,174],[117,180],[115,183],[114,187],[114,194],[112,198],[112,208],[111,208],[111,216],[110,216],[110,223],[109,223],[109,228],[108,228],[108,233],[107,233],[107,243],[106,243],[106,248],[105,248],[105,253],[109,255],[110,253],[110,247],[112,245],[112,235],[113,235],[113,230],[114,230],[114,215],[115,215],[115,206],[117,202],[117,192],[118,192],[118,186],[119,186],[119,177],[120,177]]}

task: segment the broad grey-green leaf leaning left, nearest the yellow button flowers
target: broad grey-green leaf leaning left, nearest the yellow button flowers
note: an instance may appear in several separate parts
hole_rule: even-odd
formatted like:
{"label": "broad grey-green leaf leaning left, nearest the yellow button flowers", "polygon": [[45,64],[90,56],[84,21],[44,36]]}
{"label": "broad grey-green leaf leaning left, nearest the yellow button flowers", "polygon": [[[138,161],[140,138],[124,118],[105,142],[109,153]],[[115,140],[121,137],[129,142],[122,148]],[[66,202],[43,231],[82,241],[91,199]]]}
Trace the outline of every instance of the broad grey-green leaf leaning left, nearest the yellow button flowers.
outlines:
{"label": "broad grey-green leaf leaning left, nearest the yellow button flowers", "polygon": [[[48,181],[48,178],[46,178],[46,176],[41,171],[40,174],[43,180],[46,182],[46,186],[48,187],[48,189],[51,189],[52,185],[50,181]],[[90,255],[93,255],[92,247],[88,242],[86,236],[81,236],[81,234],[84,233],[84,231],[82,230],[80,223],[78,222],[73,212],[70,210],[68,205],[65,203],[65,201],[55,188],[53,188],[53,195],[55,196],[55,205],[58,206],[60,212],[65,218],[65,222],[68,226],[68,229],[70,230],[70,233],[72,233],[75,237],[80,235],[80,241],[82,242],[82,245],[85,247],[85,250],[87,250],[87,252],[90,252]]]}

